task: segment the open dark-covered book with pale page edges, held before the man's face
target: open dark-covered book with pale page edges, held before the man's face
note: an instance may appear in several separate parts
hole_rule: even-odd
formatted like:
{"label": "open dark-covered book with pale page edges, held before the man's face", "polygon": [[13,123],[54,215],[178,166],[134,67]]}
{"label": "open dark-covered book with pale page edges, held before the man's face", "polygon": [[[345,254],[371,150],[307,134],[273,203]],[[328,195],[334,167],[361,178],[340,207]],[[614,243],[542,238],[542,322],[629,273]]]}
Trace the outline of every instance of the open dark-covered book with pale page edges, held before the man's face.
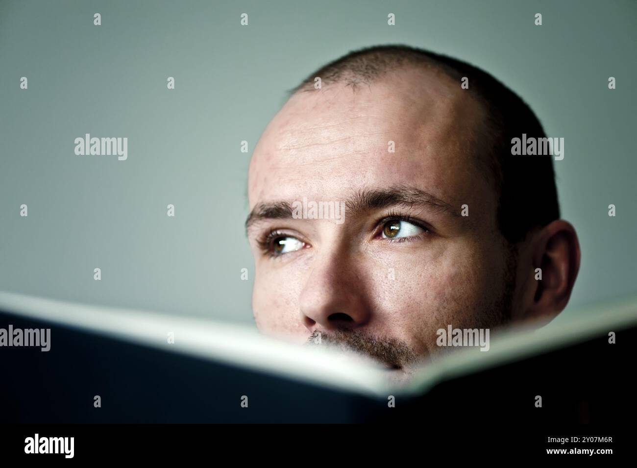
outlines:
{"label": "open dark-covered book with pale page edges, held before the man's face", "polygon": [[492,334],[488,352],[459,348],[392,386],[250,327],[0,292],[0,422],[619,422],[637,301],[595,311]]}

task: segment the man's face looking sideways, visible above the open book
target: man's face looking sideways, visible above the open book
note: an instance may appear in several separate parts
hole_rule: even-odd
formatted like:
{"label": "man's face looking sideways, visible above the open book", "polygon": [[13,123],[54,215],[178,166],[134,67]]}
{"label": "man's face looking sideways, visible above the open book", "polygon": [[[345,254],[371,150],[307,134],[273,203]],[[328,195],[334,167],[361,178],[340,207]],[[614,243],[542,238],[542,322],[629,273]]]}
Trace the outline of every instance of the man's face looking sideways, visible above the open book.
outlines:
{"label": "man's face looking sideways, visible above the open book", "polygon": [[[439,350],[436,330],[503,322],[508,257],[476,157],[484,119],[435,71],[293,96],[250,164],[259,330],[321,334],[408,373]],[[344,202],[345,217],[292,217],[282,204],[304,199]]]}

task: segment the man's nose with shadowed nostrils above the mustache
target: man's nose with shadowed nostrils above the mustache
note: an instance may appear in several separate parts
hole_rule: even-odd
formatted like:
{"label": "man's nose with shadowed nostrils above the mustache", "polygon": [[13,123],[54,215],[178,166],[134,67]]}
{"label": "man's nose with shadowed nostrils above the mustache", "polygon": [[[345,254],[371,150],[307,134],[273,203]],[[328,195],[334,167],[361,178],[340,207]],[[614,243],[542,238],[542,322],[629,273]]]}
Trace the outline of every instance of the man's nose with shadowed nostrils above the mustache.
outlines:
{"label": "man's nose with shadowed nostrils above the mustache", "polygon": [[355,329],[369,322],[363,269],[352,257],[334,252],[314,260],[299,297],[301,320],[311,332]]}

